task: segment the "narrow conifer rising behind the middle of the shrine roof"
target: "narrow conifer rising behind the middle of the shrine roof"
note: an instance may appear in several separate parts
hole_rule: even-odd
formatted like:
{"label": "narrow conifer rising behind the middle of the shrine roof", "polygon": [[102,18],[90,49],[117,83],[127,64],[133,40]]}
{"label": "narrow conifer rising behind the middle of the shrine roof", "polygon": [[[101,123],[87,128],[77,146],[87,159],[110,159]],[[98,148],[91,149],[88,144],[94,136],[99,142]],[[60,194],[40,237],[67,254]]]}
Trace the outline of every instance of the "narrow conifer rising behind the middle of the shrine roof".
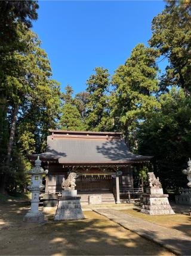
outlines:
{"label": "narrow conifer rising behind the middle of the shrine roof", "polygon": [[107,69],[97,67],[96,74],[87,80],[88,103],[86,124],[90,131],[110,131],[113,127],[109,109],[109,73]]}

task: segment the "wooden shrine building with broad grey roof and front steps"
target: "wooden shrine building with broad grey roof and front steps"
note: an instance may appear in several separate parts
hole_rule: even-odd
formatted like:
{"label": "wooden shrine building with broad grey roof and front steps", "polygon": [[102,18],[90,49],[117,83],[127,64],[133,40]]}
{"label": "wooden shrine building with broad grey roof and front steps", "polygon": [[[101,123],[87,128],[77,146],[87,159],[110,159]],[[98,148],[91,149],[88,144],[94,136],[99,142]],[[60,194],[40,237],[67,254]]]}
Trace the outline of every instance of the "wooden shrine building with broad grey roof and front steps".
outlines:
{"label": "wooden shrine building with broad grey roof and front steps", "polygon": [[[63,131],[50,129],[47,152],[39,154],[48,169],[45,193],[61,192],[63,177],[76,172],[76,189],[81,201],[100,195],[102,203],[120,203],[140,188],[133,185],[133,166],[152,156],[131,153],[121,132]],[[35,161],[38,155],[28,155]]]}

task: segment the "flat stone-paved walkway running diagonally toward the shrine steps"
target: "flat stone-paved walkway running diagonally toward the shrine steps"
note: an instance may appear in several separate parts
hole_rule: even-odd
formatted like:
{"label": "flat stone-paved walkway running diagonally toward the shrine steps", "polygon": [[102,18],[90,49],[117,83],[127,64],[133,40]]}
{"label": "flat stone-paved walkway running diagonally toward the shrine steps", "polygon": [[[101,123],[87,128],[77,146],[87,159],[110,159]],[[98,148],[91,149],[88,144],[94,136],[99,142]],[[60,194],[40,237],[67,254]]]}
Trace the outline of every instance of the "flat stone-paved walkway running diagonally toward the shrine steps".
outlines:
{"label": "flat stone-paved walkway running diagonally toward the shrine steps", "polygon": [[115,209],[94,209],[124,228],[152,240],[177,255],[191,255],[191,237],[172,228],[162,227]]}

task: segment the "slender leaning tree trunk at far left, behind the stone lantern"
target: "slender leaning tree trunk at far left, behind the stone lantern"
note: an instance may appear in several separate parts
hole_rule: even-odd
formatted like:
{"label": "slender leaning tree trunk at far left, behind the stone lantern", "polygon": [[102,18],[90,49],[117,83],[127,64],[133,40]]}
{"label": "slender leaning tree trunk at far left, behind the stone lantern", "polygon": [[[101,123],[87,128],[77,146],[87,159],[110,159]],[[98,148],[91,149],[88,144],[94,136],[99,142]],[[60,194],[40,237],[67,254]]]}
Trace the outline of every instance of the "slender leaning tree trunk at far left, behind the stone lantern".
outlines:
{"label": "slender leaning tree trunk at far left, behind the stone lantern", "polygon": [[17,116],[19,113],[19,105],[15,106],[14,108],[14,112],[13,112],[13,119],[11,122],[11,131],[10,131],[10,138],[9,138],[9,142],[8,142],[8,148],[7,148],[7,157],[5,160],[5,171],[2,174],[2,182],[1,182],[1,192],[3,194],[6,193],[6,183],[7,183],[7,174],[8,171],[10,170],[10,162],[11,162],[11,153],[13,150],[13,143],[14,143],[14,136],[15,136],[15,132],[16,132],[16,123],[17,123]]}

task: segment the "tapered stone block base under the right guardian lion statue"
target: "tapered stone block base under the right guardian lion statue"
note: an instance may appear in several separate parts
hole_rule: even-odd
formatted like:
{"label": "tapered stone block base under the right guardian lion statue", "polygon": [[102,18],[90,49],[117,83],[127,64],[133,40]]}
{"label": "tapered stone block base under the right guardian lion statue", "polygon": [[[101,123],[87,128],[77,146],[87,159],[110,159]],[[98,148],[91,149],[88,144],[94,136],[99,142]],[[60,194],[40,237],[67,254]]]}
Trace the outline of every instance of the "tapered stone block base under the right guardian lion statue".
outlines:
{"label": "tapered stone block base under the right guardian lion statue", "polygon": [[148,195],[143,195],[143,208],[141,213],[147,215],[171,215],[174,214],[172,210],[167,195],[162,195],[159,197],[149,197]]}

